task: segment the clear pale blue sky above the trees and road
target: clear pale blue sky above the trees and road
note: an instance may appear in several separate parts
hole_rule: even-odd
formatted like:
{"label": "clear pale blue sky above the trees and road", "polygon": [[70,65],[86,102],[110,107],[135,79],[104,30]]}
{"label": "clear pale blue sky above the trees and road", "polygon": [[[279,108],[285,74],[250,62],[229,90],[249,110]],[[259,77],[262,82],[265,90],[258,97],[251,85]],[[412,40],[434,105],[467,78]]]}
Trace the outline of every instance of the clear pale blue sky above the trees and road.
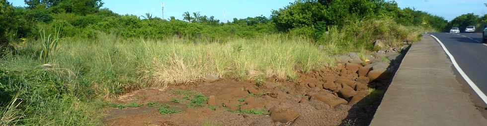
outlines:
{"label": "clear pale blue sky above the trees and road", "polygon": [[[14,6],[25,6],[24,0],[8,0]],[[200,12],[201,15],[215,16],[222,21],[264,15],[279,9],[294,0],[102,0],[103,7],[119,14],[144,15],[152,13],[162,17],[161,3],[164,2],[164,18],[174,16],[182,19],[182,13]],[[414,7],[447,20],[465,13],[484,15],[487,0],[396,0],[401,8]]]}

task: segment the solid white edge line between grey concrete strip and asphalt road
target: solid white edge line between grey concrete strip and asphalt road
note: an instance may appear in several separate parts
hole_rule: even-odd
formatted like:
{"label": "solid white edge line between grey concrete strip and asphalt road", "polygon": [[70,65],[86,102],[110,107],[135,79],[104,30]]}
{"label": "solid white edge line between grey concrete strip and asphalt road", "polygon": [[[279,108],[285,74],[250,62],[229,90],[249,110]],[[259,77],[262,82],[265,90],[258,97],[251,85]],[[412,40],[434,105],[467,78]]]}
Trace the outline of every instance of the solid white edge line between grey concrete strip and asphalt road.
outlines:
{"label": "solid white edge line between grey concrete strip and asphalt road", "polygon": [[[436,38],[433,35],[430,35],[430,36],[433,37],[433,38],[435,38],[436,42],[438,42],[438,43],[441,44],[441,47],[443,47],[443,50],[445,50],[445,52],[448,55],[448,57],[450,57],[450,59],[451,59],[451,61],[453,63],[453,66],[455,66],[455,68],[457,69],[458,73],[460,73],[460,75],[462,75],[463,79],[465,79],[465,81],[470,85],[470,87],[472,87],[472,89],[477,93],[477,95],[479,95],[480,98],[482,100],[484,100],[484,102],[487,104],[487,96],[486,96],[486,94],[484,94],[484,92],[482,92],[479,89],[479,87],[477,87],[477,85],[472,80],[470,80],[470,78],[467,76],[467,74],[465,74],[465,72],[463,72],[462,68],[460,68],[460,66],[457,64],[457,61],[455,61],[455,58],[448,51],[448,49],[445,47],[445,45],[443,44],[443,42],[441,42],[438,38]],[[484,45],[486,45],[486,44],[484,43]]]}

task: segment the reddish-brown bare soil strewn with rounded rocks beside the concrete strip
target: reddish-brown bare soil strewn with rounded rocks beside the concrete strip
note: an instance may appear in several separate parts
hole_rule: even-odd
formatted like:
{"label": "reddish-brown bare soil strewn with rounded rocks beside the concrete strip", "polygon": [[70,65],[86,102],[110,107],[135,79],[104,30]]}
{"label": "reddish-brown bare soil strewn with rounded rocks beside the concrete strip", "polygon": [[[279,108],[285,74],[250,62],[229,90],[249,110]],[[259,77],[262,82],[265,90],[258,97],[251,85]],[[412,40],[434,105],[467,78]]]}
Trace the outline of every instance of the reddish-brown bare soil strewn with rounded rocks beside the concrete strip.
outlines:
{"label": "reddish-brown bare soil strewn with rounded rocks beside the concrete strip", "polygon": [[[377,101],[360,102],[367,100],[363,98],[370,93],[368,87],[386,84],[358,77],[355,67],[363,66],[340,64],[335,70],[302,73],[294,82],[267,80],[260,87],[224,79],[138,90],[112,102],[143,106],[109,109],[103,122],[108,126],[365,126]],[[197,94],[204,96],[204,104],[191,106]],[[180,112],[162,114],[161,106]]]}

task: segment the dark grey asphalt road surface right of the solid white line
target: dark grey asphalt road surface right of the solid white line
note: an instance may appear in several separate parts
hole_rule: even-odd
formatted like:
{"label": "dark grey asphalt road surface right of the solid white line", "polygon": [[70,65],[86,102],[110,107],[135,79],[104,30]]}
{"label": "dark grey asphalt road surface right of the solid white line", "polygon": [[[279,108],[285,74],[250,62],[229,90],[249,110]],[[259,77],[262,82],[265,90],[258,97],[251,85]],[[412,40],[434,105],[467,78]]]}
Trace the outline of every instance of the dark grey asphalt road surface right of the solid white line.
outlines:
{"label": "dark grey asphalt road surface right of the solid white line", "polygon": [[458,65],[482,92],[487,93],[487,44],[481,33],[429,33],[445,44]]}

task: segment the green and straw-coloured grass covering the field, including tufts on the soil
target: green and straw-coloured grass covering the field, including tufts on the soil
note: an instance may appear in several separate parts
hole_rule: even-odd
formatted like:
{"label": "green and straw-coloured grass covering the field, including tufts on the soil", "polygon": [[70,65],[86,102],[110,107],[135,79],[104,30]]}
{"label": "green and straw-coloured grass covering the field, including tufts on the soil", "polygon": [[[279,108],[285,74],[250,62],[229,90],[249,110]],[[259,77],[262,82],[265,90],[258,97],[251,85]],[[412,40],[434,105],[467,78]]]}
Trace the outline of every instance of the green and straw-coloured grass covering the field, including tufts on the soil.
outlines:
{"label": "green and straw-coloured grass covering the field, including tufts on the soil", "polygon": [[[330,55],[371,50],[375,39],[388,40],[391,45],[417,40],[421,29],[387,20],[363,21],[342,30],[332,28],[320,40],[272,34],[224,42],[177,37],[123,39],[100,33],[94,34],[95,39],[60,39],[53,49],[56,53],[47,56],[49,66],[41,66],[46,63],[41,58],[46,56],[41,55],[45,55],[43,48],[53,44],[28,39],[31,41],[12,50],[15,53],[0,59],[0,106],[8,108],[8,101],[18,93],[22,103],[12,109],[22,110],[15,111],[22,116],[22,120],[15,118],[20,120],[17,124],[96,126],[102,124],[100,112],[108,107],[107,99],[130,91],[197,84],[208,74],[256,80],[258,86],[267,79],[292,81],[298,78],[298,71],[334,66]],[[318,44],[325,48],[319,49]],[[207,100],[200,93],[177,93],[183,97],[179,102],[189,107],[204,106]]]}

